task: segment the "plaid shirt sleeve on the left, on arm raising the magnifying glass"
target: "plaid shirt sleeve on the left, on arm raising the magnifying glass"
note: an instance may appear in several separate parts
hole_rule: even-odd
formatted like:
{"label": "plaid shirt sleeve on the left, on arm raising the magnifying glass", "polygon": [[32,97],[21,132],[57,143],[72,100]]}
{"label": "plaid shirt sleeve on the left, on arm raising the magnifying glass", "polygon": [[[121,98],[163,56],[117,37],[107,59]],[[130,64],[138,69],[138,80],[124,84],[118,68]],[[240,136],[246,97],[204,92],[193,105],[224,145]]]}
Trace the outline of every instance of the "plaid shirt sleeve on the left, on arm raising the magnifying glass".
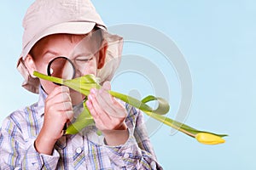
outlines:
{"label": "plaid shirt sleeve on the left, on arm raising the magnifying glass", "polygon": [[0,129],[0,169],[55,169],[59,153],[39,154],[34,140],[25,141],[20,125],[9,116]]}

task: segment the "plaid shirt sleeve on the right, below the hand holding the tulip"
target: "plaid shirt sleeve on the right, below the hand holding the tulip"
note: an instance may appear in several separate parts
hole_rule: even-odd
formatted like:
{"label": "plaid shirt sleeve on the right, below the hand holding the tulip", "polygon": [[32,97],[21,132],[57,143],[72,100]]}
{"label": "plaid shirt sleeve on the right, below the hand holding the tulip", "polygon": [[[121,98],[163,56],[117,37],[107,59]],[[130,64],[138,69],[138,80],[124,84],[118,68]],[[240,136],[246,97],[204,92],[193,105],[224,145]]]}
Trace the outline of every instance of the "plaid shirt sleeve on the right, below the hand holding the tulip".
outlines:
{"label": "plaid shirt sleeve on the right, below the hand holding the tulip", "polygon": [[156,160],[143,122],[143,113],[134,107],[128,109],[126,124],[129,139],[119,146],[108,146],[108,155],[114,169],[162,169]]}

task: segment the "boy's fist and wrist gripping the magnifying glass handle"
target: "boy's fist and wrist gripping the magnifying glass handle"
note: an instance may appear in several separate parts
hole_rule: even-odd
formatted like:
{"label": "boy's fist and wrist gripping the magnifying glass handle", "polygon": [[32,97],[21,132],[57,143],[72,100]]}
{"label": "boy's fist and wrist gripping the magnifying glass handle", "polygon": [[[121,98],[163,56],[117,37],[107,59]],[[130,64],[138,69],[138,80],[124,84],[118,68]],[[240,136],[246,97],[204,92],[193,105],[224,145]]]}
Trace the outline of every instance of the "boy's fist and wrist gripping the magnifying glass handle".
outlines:
{"label": "boy's fist and wrist gripping the magnifying glass handle", "polygon": [[66,122],[73,118],[73,107],[69,88],[58,86],[45,99],[44,124],[35,141],[39,153],[52,154],[57,139],[62,136]]}

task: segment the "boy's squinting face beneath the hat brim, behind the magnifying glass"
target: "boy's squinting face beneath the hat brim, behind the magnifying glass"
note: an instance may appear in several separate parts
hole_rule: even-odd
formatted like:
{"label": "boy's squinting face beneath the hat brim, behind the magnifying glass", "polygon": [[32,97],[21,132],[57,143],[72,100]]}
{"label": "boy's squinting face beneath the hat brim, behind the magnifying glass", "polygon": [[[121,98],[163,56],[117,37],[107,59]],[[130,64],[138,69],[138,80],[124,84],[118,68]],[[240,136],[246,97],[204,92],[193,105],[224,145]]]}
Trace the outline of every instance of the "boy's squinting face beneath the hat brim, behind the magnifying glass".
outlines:
{"label": "boy's squinting face beneath the hat brim, behind the magnifying glass", "polygon": [[[84,38],[85,37],[85,38]],[[96,38],[87,38],[82,35],[56,34],[44,37],[33,48],[31,55],[28,55],[26,63],[32,70],[47,74],[47,66],[52,59],[64,56],[73,61],[76,68],[75,77],[86,74],[96,75],[97,69],[104,65],[104,48],[99,51],[99,42]],[[102,52],[103,50],[103,52]],[[32,66],[30,66],[32,65]],[[56,86],[55,83],[40,80],[44,91],[49,94]],[[84,99],[82,94],[70,89],[73,105],[79,104]]]}

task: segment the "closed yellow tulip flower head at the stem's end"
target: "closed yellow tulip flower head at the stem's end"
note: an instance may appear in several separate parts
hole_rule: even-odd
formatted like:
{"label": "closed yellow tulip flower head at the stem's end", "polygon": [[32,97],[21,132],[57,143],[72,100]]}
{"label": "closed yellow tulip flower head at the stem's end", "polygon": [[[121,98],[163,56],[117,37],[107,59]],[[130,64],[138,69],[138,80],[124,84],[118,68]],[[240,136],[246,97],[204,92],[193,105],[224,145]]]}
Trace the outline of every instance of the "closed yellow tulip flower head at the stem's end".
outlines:
{"label": "closed yellow tulip flower head at the stem's end", "polygon": [[211,133],[197,133],[195,139],[201,144],[222,144],[225,142],[221,137]]}

